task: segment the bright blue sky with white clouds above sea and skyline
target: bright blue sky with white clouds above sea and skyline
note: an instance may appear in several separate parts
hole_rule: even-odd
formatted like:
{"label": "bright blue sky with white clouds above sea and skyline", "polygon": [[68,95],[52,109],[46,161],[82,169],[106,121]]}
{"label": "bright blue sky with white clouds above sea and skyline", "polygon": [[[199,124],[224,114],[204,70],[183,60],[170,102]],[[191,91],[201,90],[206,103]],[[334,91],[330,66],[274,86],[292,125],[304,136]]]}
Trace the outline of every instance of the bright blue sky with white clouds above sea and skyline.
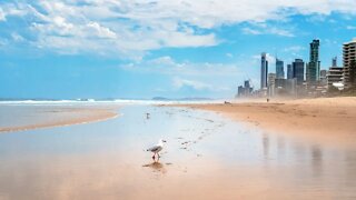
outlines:
{"label": "bright blue sky with white clouds above sea and skyline", "polygon": [[233,98],[259,54],[322,68],[356,37],[355,0],[0,2],[0,98]]}

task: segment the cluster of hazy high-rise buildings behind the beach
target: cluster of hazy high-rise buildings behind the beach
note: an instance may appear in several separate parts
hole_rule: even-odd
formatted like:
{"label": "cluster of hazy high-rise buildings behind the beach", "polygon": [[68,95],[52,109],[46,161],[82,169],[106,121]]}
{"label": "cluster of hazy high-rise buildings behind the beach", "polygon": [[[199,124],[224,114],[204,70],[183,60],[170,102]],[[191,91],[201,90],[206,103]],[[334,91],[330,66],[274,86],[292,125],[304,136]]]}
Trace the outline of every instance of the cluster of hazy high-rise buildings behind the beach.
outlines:
{"label": "cluster of hazy high-rise buildings behind the beach", "polygon": [[[268,71],[266,52],[260,56],[260,88],[250,90],[248,87],[239,86],[236,97],[325,97],[352,92],[356,80],[356,38],[343,43],[343,67],[338,67],[337,57],[332,59],[328,69],[320,70],[319,61],[320,41],[314,39],[309,43],[309,62],[296,58],[287,64],[287,77],[284,73],[284,61],[276,57],[275,73]],[[268,99],[267,99],[268,102]]]}

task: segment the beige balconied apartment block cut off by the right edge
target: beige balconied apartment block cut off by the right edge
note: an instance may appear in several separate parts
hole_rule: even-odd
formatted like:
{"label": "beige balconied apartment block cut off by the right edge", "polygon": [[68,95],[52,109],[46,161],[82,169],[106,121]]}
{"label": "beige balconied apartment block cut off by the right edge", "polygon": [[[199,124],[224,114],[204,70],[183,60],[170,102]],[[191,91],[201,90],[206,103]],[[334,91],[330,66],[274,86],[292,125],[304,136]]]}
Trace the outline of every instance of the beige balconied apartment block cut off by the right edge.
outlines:
{"label": "beige balconied apartment block cut off by the right edge", "polygon": [[353,41],[344,43],[343,48],[344,57],[344,84],[347,88],[350,83],[349,69],[353,61],[356,61],[356,38]]}

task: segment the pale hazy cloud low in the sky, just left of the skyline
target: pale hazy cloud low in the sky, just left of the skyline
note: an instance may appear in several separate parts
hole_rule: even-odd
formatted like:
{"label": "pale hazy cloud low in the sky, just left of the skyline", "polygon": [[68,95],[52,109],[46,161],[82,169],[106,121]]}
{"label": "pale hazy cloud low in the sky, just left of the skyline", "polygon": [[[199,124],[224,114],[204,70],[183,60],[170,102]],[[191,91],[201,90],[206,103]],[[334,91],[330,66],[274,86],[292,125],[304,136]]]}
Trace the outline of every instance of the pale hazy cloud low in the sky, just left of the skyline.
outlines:
{"label": "pale hazy cloud low in the sky, just left of the skyline", "polygon": [[237,80],[245,74],[236,64],[177,62],[170,57],[131,62],[120,68],[138,73],[165,76],[172,80],[172,86],[177,90],[189,87],[195,90],[226,93],[234,93]]}

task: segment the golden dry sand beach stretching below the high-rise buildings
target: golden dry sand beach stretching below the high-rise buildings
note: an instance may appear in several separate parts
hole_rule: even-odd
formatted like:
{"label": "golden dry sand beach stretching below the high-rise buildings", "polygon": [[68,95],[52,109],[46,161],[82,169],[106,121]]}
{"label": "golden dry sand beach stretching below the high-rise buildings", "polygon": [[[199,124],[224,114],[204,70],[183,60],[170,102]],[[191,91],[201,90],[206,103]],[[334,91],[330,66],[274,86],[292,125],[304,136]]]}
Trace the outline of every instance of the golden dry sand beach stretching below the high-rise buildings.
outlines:
{"label": "golden dry sand beach stretching below the high-rise buildings", "polygon": [[268,132],[334,146],[356,147],[356,98],[353,97],[184,107],[216,111]]}

